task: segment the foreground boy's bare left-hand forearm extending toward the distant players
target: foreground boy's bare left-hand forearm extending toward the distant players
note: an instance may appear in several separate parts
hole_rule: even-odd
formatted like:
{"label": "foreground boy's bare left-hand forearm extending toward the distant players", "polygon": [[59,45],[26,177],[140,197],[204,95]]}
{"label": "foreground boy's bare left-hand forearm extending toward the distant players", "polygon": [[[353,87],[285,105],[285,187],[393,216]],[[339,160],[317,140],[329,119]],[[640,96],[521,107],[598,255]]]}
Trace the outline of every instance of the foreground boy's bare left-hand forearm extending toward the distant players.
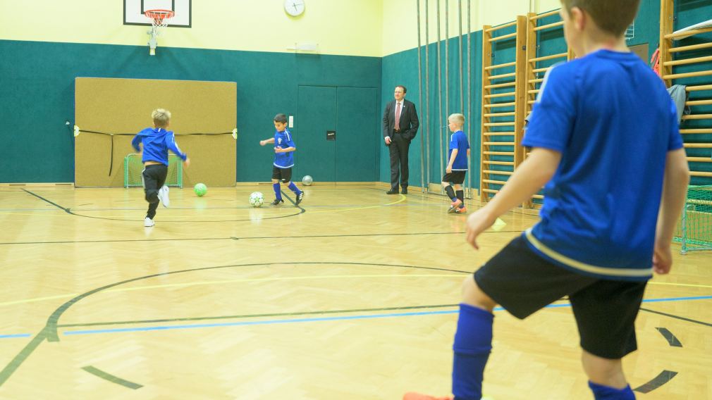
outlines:
{"label": "foreground boy's bare left-hand forearm extending toward the distant players", "polygon": [[535,147],[520,167],[515,169],[498,194],[486,206],[468,217],[468,243],[478,249],[477,236],[492,226],[499,216],[527,201],[539,191],[541,186],[554,176],[560,161],[560,152]]}

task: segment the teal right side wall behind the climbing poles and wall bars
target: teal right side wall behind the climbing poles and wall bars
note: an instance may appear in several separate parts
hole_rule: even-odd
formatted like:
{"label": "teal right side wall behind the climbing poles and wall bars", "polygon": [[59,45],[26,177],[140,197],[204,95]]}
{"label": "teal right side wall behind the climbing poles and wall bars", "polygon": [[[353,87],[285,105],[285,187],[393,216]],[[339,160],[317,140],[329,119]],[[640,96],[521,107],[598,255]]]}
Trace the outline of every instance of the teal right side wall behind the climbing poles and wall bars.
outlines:
{"label": "teal right side wall behind the climbing poles and wall bars", "polygon": [[[699,23],[712,15],[712,3],[710,1],[702,0],[679,0],[676,1],[678,6],[676,6],[676,28],[682,28],[684,26],[689,26],[693,23]],[[550,16],[541,22],[551,23],[559,21],[557,16]],[[649,44],[649,56],[654,53],[655,49],[658,47],[659,42],[659,26],[660,26],[660,1],[659,0],[642,0],[639,14],[635,20],[635,37],[629,41],[629,46],[635,46],[642,43]],[[434,24],[431,24],[431,29],[435,29]],[[423,28],[424,29],[424,28]],[[510,28],[511,29],[511,28]],[[510,33],[510,31],[506,31]],[[540,54],[555,54],[563,53],[566,51],[566,45],[563,38],[562,31],[551,30],[543,31],[539,35],[538,46],[540,46]],[[479,186],[479,162],[480,162],[480,116],[481,116],[481,76],[482,76],[482,31],[476,31],[472,34],[471,43],[471,54],[473,57],[473,68],[471,69],[471,82],[472,82],[472,125],[469,128],[472,140],[470,143],[472,151],[472,162],[470,167],[470,172],[468,173],[468,179],[470,179],[471,186],[478,188]],[[707,33],[705,35],[696,36],[694,38],[686,39],[681,41],[680,46],[686,46],[689,44],[702,43],[712,41],[712,33]],[[441,70],[444,75],[445,71],[445,51],[444,51],[444,41],[441,41]],[[495,60],[493,63],[507,63],[514,60],[514,49],[511,45],[511,41],[507,43],[506,41],[496,42],[498,47],[496,48]],[[449,102],[450,102],[450,112],[459,112],[459,55],[458,51],[458,39],[451,38],[449,41],[450,51],[449,51],[449,67],[450,67],[450,82],[449,82]],[[466,56],[467,43],[464,41],[464,56]],[[699,53],[689,52],[686,57],[701,57],[708,56],[708,49],[700,51]],[[421,50],[422,54],[422,68],[423,68],[423,85],[425,85],[425,51],[424,47]],[[416,103],[418,107],[419,116],[421,121],[423,121],[424,115],[426,114],[426,99],[423,98],[422,102],[419,102],[419,89],[418,89],[418,53],[415,48],[402,51],[400,53],[395,53],[390,56],[386,56],[382,61],[382,96],[381,96],[381,112],[384,109],[385,102],[392,100],[393,98],[393,87],[399,83],[406,85],[408,87],[408,100]],[[430,131],[431,131],[431,145],[430,145],[430,182],[439,183],[441,178],[440,172],[440,147],[439,142],[435,135],[439,132],[439,115],[438,115],[438,99],[437,99],[437,51],[436,44],[432,43],[429,45],[429,80],[430,80]],[[554,63],[556,60],[553,60]],[[709,70],[712,63],[698,64],[691,67],[681,67],[676,70],[676,72],[689,72],[693,70]],[[511,71],[510,71],[511,72]],[[467,74],[467,60],[464,63],[464,73]],[[467,76],[465,76],[465,85],[467,82]],[[688,78],[686,80],[681,80],[679,83],[684,83],[686,85],[701,84],[709,82],[709,77],[702,78]],[[466,86],[465,86],[466,87]],[[443,95],[443,107],[445,104],[445,78],[441,80],[441,93]],[[701,95],[708,97],[708,92],[693,93],[691,98],[699,98]],[[466,106],[467,107],[467,106]],[[695,113],[712,113],[711,106],[696,106]],[[467,111],[467,110],[466,110]],[[498,109],[500,112],[506,111],[506,109]],[[467,116],[467,112],[466,112]],[[447,113],[445,110],[442,112],[442,119],[446,125]],[[703,121],[689,121],[685,122],[682,126],[683,128],[691,127],[710,127],[708,120]],[[445,132],[447,128],[443,128]],[[466,132],[468,127],[466,127]],[[419,131],[419,136],[424,135],[425,126],[422,125]],[[686,142],[712,142],[712,135],[703,136],[696,135],[694,139],[688,140]],[[446,149],[446,143],[444,143],[444,148]],[[445,151],[443,150],[443,157],[446,157]],[[710,157],[710,149],[689,149],[688,154],[693,157]],[[420,171],[421,171],[421,142],[420,137],[412,142],[410,149],[410,175],[411,184],[420,184]],[[426,155],[425,155],[426,157]],[[712,171],[712,163],[693,163],[691,164],[693,169],[698,171]],[[427,170],[427,167],[425,167]],[[389,155],[386,147],[381,146],[380,152],[380,180],[387,182],[390,177],[390,167],[389,167]],[[712,179],[709,178],[693,178],[693,184],[712,184]]]}

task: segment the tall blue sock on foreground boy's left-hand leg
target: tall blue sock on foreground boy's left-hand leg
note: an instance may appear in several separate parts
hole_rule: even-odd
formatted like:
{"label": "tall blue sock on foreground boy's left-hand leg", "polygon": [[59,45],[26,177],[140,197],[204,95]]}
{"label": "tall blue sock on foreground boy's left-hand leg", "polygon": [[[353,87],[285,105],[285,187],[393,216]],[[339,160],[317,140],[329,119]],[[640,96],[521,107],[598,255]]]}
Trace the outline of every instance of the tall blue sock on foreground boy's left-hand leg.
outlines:
{"label": "tall blue sock on foreground boy's left-hand leg", "polygon": [[458,400],[480,400],[482,379],[492,351],[491,312],[467,304],[460,305],[452,366],[452,393]]}

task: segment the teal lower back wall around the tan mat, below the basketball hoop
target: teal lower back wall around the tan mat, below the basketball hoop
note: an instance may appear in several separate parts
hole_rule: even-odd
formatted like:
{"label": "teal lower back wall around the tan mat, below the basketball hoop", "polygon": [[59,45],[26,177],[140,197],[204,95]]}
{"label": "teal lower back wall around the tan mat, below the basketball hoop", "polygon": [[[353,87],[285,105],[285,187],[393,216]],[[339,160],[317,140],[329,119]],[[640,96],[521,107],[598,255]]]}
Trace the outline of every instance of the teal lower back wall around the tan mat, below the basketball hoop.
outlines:
{"label": "teal lower back wall around the tan mat, below the basketball hoop", "polygon": [[[381,90],[379,57],[168,47],[155,57],[146,53],[145,46],[0,41],[0,182],[73,181],[73,137],[64,122],[74,122],[78,76],[236,82],[237,181],[270,179],[272,153],[258,141],[273,135],[277,112],[295,115],[299,157],[320,156],[300,140],[299,85]],[[371,118],[375,130],[377,112]],[[375,142],[373,130],[358,134],[365,142]],[[373,180],[373,162],[353,169],[362,173],[352,179]]]}

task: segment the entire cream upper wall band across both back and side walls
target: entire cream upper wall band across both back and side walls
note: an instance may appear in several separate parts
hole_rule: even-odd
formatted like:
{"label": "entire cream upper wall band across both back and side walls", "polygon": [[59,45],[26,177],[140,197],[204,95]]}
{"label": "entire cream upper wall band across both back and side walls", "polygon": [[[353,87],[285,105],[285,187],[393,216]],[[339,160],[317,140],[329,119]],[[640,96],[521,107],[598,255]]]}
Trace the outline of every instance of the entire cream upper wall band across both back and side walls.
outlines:
{"label": "entire cream upper wall band across both back and side walls", "polygon": [[[441,38],[445,1],[440,0]],[[158,46],[289,52],[294,43],[313,42],[322,54],[380,57],[418,45],[416,0],[305,2],[305,13],[291,18],[283,0],[194,0],[193,27],[166,29]],[[424,21],[425,0],[420,3]],[[436,3],[429,0],[431,43],[437,40]],[[457,3],[449,0],[450,37],[458,34]],[[462,6],[466,33],[466,0]],[[144,46],[147,27],[123,25],[122,7],[121,0],[0,0],[0,39]],[[471,0],[471,29],[559,7],[560,0]],[[30,19],[26,10],[41,12]],[[421,28],[424,43],[424,23]]]}

